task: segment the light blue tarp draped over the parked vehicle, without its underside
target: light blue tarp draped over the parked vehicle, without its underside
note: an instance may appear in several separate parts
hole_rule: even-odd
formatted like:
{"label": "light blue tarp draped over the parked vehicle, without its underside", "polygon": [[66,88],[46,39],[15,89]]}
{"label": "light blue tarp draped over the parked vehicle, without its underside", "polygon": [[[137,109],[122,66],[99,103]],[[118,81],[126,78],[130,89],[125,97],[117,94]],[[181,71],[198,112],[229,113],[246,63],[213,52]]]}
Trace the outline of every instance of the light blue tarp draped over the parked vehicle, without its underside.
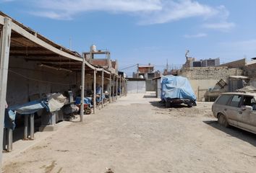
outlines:
{"label": "light blue tarp draped over the parked vehicle, without its underside", "polygon": [[196,101],[194,91],[187,80],[182,76],[164,76],[161,81],[161,99],[190,99]]}

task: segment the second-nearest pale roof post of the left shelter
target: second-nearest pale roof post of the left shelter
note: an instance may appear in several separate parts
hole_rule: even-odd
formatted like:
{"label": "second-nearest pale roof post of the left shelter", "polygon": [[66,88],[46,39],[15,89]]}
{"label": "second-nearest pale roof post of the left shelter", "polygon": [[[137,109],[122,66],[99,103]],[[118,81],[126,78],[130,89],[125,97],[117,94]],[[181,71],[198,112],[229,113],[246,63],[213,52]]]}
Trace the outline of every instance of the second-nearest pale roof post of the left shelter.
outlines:
{"label": "second-nearest pale roof post of the left shelter", "polygon": [[80,122],[84,115],[84,104],[85,104],[85,57],[82,55],[82,71],[81,71],[81,102],[80,102]]}

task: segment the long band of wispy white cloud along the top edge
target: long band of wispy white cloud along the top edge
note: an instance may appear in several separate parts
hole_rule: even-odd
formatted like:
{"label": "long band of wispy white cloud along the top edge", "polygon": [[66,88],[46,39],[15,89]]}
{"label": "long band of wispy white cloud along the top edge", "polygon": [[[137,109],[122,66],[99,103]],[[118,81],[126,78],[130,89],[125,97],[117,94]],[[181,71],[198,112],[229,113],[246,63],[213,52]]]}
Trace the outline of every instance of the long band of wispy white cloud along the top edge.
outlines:
{"label": "long band of wispy white cloud along the top edge", "polygon": [[225,22],[229,17],[225,6],[209,6],[194,0],[38,0],[33,4],[36,10],[31,14],[51,19],[72,19],[82,12],[110,12],[132,14],[140,25],[191,17]]}

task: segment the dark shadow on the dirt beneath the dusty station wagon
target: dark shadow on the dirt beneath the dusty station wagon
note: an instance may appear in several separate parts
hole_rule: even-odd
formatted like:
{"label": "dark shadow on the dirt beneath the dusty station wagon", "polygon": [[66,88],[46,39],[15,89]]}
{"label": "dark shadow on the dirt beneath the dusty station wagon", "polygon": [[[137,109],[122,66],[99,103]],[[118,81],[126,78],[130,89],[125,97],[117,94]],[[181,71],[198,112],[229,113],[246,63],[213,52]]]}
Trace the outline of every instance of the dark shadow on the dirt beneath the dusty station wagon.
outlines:
{"label": "dark shadow on the dirt beneath the dusty station wagon", "polygon": [[239,138],[242,141],[250,143],[252,146],[256,146],[256,135],[254,133],[249,133],[245,130],[235,128],[233,126],[229,126],[229,128],[224,128],[221,125],[219,125],[218,122],[215,120],[202,121],[202,122],[212,126],[213,128],[223,131],[228,136]]}

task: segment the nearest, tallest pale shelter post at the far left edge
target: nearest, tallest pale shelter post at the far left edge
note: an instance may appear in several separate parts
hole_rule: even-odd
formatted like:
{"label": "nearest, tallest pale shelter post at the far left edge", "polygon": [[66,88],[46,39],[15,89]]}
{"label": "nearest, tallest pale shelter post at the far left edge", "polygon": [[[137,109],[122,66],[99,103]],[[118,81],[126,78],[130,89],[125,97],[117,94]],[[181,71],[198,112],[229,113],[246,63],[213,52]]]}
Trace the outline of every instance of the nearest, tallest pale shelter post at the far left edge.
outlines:
{"label": "nearest, tallest pale shelter post at the far left edge", "polygon": [[[11,45],[12,19],[4,17],[4,26],[0,40],[0,148],[3,148],[4,112],[7,99],[7,76],[9,68],[9,50]],[[2,161],[0,152],[0,169]]]}

